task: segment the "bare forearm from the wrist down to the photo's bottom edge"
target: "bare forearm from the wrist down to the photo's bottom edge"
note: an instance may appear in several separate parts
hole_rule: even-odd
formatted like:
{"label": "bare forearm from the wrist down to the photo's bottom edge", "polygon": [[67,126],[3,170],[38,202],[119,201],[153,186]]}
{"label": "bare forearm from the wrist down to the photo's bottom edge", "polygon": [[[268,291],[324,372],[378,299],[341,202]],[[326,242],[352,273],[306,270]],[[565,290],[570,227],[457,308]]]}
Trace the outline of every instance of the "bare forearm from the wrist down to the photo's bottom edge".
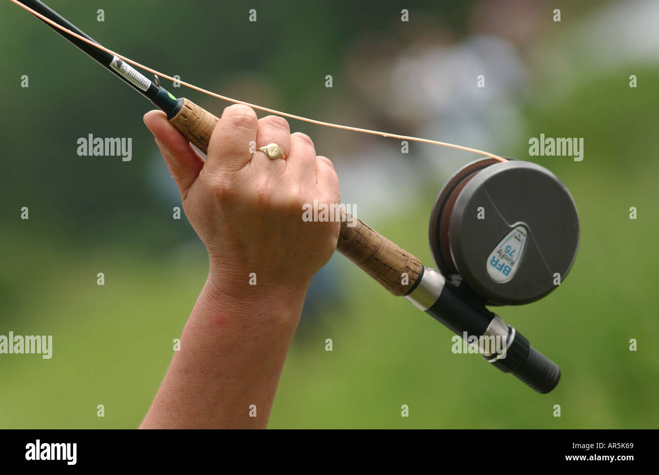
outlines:
{"label": "bare forearm from the wrist down to the photo's bottom edge", "polygon": [[141,428],[267,426],[304,292],[220,287],[206,282]]}

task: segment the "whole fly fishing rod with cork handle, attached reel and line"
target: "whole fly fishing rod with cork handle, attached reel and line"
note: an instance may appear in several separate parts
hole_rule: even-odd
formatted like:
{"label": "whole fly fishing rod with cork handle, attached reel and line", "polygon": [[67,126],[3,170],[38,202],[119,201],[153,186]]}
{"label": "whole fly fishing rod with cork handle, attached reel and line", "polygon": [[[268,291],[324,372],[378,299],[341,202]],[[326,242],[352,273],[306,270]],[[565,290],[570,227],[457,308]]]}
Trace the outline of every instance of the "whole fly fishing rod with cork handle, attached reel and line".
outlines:
{"label": "whole fly fishing rod with cork handle, attached reel and line", "polygon": [[[157,75],[154,81],[149,80],[127,59],[109,52],[41,1],[11,1],[27,7],[150,100],[190,143],[204,153],[208,151],[210,136],[219,122],[215,115],[189,99],[175,98],[159,84]],[[539,393],[552,391],[561,376],[559,367],[486,305],[533,302],[552,292],[565,278],[579,244],[579,217],[571,195],[553,173],[535,163],[434,140],[411,139],[487,156],[457,171],[436,199],[430,219],[430,247],[439,270],[426,267],[345,208],[341,208],[337,250],[389,293],[404,296],[463,337],[492,366],[510,372]]]}

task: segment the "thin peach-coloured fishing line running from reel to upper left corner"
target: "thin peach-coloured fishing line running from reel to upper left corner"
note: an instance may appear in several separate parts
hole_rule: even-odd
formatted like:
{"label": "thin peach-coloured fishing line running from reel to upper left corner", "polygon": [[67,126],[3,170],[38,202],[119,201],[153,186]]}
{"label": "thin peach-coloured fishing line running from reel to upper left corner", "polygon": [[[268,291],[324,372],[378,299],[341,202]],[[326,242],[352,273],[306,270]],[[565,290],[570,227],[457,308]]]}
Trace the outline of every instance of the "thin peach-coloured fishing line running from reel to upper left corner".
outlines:
{"label": "thin peach-coloured fishing line running from reel to upper left corner", "polygon": [[200,88],[199,86],[195,86],[194,84],[190,84],[190,83],[182,81],[180,79],[175,79],[171,76],[168,76],[167,74],[159,72],[159,71],[157,71],[155,69],[152,69],[150,67],[144,66],[144,65],[138,63],[137,61],[133,61],[132,59],[129,59],[125,56],[122,56],[119,53],[116,53],[115,51],[112,51],[111,49],[108,49],[108,48],[100,45],[99,43],[96,43],[93,40],[90,40],[89,38],[85,38],[84,36],[79,35],[76,32],[72,32],[71,30],[69,30],[69,28],[65,28],[64,26],[61,26],[60,24],[58,24],[57,22],[54,22],[50,18],[47,18],[46,16],[43,16],[42,14],[38,13],[37,11],[34,11],[30,7],[28,7],[27,5],[23,5],[18,0],[9,0],[9,1],[11,1],[12,3],[18,5],[22,9],[32,13],[37,18],[40,18],[40,20],[42,20],[44,22],[47,22],[51,26],[54,26],[58,30],[63,31],[63,32],[73,36],[74,38],[78,38],[78,40],[80,40],[82,42],[85,42],[85,43],[88,43],[89,45],[92,45],[92,46],[100,49],[101,51],[105,51],[105,53],[115,55],[119,59],[121,59],[123,61],[126,61],[127,63],[130,63],[131,65],[134,65],[138,68],[141,68],[141,69],[147,70],[149,72],[152,72],[152,74],[156,74],[157,76],[160,76],[161,78],[165,78],[165,79],[170,80],[170,81],[175,82],[175,83],[178,82],[179,84],[183,84],[183,86],[186,86],[187,88],[196,90],[196,91],[201,92],[203,94],[207,94],[208,96],[212,96],[212,97],[217,98],[217,99],[222,99],[224,101],[233,102],[233,103],[236,103],[236,104],[247,105],[248,107],[252,107],[253,109],[258,109],[260,111],[268,112],[268,113],[271,113],[271,114],[274,114],[274,115],[281,115],[283,117],[288,117],[289,119],[295,119],[297,121],[308,122],[308,123],[315,124],[315,125],[322,125],[322,126],[331,127],[331,128],[339,128],[339,129],[343,129],[343,130],[351,130],[353,132],[362,132],[364,134],[379,135],[379,136],[382,136],[382,137],[385,137],[385,138],[391,137],[391,138],[397,138],[399,140],[411,140],[413,142],[423,142],[425,144],[440,145],[440,146],[443,146],[443,147],[455,148],[457,150],[464,150],[465,152],[474,152],[474,154],[485,155],[486,157],[492,157],[492,158],[494,158],[498,161],[507,161],[505,158],[500,157],[499,155],[494,155],[494,154],[491,154],[490,152],[484,152],[483,150],[478,150],[476,148],[465,147],[465,146],[461,146],[461,145],[457,145],[457,144],[449,144],[448,142],[440,142],[439,140],[430,140],[428,138],[419,138],[419,137],[413,137],[413,136],[407,136],[407,135],[390,134],[388,132],[379,132],[378,130],[370,130],[368,128],[352,127],[352,126],[347,126],[347,125],[339,125],[339,124],[333,124],[333,123],[324,122],[324,121],[318,121],[316,119],[308,119],[306,117],[301,117],[299,115],[294,115],[294,114],[289,114],[289,113],[282,112],[282,111],[277,111],[275,109],[270,109],[269,107],[262,107],[261,105],[252,104],[252,103],[249,103],[249,102],[246,102],[246,101],[241,101],[239,99],[228,98],[227,96],[222,96],[221,94],[217,94],[215,92],[206,90],[204,88]]}

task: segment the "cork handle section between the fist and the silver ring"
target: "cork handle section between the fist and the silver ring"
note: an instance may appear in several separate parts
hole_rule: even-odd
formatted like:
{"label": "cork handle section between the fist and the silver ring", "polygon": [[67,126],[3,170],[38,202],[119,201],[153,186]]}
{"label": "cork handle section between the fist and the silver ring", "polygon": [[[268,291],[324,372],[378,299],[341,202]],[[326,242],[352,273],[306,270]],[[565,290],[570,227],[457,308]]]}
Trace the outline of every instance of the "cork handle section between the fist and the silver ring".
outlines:
{"label": "cork handle section between the fist and the silver ring", "polygon": [[[353,223],[354,226],[349,226]],[[396,296],[412,289],[423,267],[415,256],[373,231],[343,207],[336,248]],[[407,274],[407,279],[403,273]]]}

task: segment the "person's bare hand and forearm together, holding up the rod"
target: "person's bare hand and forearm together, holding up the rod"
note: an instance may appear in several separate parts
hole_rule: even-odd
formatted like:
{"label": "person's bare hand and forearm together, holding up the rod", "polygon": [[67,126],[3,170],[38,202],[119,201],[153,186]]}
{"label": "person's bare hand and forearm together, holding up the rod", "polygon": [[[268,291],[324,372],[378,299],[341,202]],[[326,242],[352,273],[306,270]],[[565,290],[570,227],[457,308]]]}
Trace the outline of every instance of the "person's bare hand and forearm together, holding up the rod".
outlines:
{"label": "person's bare hand and forearm together, holding up the rod", "polygon": [[144,122],[210,269],[141,428],[265,428],[310,279],[336,249],[338,221],[302,220],[303,204],[339,204],[334,167],[245,105],[224,109],[206,161],[161,111]]}

